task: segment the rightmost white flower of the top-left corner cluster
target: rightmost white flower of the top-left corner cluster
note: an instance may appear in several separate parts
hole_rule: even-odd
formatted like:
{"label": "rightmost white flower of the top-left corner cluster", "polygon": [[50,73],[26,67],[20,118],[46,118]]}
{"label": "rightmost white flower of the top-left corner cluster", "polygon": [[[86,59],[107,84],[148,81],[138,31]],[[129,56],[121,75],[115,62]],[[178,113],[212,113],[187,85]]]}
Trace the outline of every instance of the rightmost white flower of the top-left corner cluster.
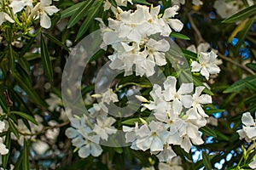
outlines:
{"label": "rightmost white flower of the top-left corner cluster", "polygon": [[[57,13],[60,9],[56,8],[54,5],[51,5],[51,0],[42,0],[34,8],[32,8],[30,18],[34,16],[40,18],[40,26],[48,29],[51,26],[50,18],[52,14]],[[49,16],[48,16],[49,15]]]}

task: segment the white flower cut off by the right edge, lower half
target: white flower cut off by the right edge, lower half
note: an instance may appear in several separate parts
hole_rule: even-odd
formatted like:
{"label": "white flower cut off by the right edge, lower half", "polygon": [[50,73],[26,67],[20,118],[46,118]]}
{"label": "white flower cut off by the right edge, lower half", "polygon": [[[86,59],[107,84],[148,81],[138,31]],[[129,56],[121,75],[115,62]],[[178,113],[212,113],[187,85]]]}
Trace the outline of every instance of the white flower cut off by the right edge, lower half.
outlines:
{"label": "white flower cut off by the right edge, lower half", "polygon": [[243,124],[242,129],[236,131],[240,139],[246,139],[247,142],[251,142],[256,139],[256,122],[253,120],[253,116],[249,112],[243,113],[241,116],[241,122]]}

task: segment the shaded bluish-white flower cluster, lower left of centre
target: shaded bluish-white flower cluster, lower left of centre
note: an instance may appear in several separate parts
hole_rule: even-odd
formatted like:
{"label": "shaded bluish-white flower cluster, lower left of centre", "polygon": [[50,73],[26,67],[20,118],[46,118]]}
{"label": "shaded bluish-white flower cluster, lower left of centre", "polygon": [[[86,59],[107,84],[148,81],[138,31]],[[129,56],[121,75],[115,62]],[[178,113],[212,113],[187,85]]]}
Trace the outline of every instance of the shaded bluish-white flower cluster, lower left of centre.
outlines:
{"label": "shaded bluish-white flower cluster, lower left of centre", "polygon": [[108,135],[117,132],[113,127],[115,119],[108,116],[107,105],[110,102],[117,102],[119,99],[113,94],[112,89],[108,89],[103,94],[96,94],[95,97],[102,97],[98,104],[90,108],[89,115],[76,116],[70,118],[72,127],[68,127],[66,135],[72,139],[72,143],[79,149],[80,157],[100,156],[102,147],[100,140],[108,141]]}

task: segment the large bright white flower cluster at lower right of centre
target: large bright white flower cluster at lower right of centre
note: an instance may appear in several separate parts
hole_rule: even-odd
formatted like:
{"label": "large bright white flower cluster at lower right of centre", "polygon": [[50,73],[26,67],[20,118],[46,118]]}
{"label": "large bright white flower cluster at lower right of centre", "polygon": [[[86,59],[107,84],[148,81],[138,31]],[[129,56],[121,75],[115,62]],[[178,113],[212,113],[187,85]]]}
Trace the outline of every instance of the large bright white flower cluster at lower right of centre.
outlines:
{"label": "large bright white flower cluster at lower right of centre", "polygon": [[[153,111],[155,120],[138,127],[123,127],[126,142],[132,142],[131,149],[150,150],[160,161],[171,161],[176,156],[171,144],[180,145],[189,152],[192,143],[203,144],[199,128],[207,124],[207,114],[202,108],[212,103],[208,94],[201,94],[204,87],[196,87],[193,83],[183,83],[177,90],[177,79],[167,77],[164,89],[154,84],[150,96],[153,101],[143,107]],[[142,96],[138,99],[147,101]]]}

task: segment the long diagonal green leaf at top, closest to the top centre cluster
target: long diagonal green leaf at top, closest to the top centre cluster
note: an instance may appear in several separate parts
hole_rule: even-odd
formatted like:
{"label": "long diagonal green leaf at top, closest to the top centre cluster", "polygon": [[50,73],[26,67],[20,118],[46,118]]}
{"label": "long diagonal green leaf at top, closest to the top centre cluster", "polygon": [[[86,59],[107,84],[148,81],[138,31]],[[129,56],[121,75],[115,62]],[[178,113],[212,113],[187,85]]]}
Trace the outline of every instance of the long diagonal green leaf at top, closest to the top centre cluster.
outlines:
{"label": "long diagonal green leaf at top, closest to the top centre cluster", "polygon": [[96,14],[98,13],[98,11],[100,11],[100,9],[101,9],[100,7],[102,6],[102,3],[103,3],[103,1],[99,0],[92,4],[92,6],[94,8],[89,9],[88,14],[90,14],[90,15],[87,15],[82,26],[80,26],[79,33],[78,33],[75,41],[78,41],[78,39],[80,37],[82,37],[84,35],[84,33],[88,30],[91,21],[95,19]]}

